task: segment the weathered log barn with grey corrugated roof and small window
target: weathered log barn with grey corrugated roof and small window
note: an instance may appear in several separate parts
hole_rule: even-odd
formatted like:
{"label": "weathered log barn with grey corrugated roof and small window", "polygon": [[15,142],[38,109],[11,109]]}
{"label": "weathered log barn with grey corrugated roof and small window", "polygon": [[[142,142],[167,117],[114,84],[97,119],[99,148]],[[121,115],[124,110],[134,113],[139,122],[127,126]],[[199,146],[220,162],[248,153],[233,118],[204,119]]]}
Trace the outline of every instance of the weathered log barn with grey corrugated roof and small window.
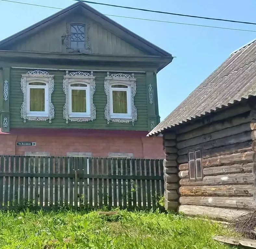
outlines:
{"label": "weathered log barn with grey corrugated roof and small window", "polygon": [[255,207],[256,40],[233,52],[148,136],[163,136],[165,207],[228,220]]}

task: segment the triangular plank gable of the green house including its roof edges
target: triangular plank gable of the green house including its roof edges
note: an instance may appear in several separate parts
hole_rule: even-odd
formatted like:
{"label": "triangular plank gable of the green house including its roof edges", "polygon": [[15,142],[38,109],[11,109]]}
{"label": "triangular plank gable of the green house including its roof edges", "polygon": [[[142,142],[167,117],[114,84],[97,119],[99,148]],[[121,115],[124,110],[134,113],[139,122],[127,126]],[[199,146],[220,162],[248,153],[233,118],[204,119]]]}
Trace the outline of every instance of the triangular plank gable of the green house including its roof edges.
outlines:
{"label": "triangular plank gable of the green house including its roof edges", "polygon": [[[78,2],[45,20],[20,31],[0,42],[1,50],[36,52],[74,52],[69,48],[70,25],[81,23],[88,25],[89,46],[82,51],[85,54],[112,55],[160,55],[171,56],[131,31],[123,28],[90,6]],[[159,50],[159,51],[158,51]]]}

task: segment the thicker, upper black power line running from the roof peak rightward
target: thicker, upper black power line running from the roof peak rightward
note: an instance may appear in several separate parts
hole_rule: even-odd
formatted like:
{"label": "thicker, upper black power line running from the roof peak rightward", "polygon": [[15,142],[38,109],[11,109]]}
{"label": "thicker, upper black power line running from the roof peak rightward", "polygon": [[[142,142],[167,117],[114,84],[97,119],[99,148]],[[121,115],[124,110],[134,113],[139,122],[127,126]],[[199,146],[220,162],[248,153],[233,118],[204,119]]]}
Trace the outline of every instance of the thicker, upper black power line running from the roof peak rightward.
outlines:
{"label": "thicker, upper black power line running from the roof peak rightward", "polygon": [[168,14],[168,15],[181,16],[181,17],[192,17],[192,18],[200,18],[200,19],[207,19],[207,20],[235,22],[235,23],[243,23],[243,24],[253,24],[253,25],[256,25],[256,23],[254,23],[254,22],[244,22],[244,21],[236,21],[236,20],[228,20],[228,19],[220,19],[220,18],[191,16],[191,15],[185,15],[185,14],[177,14],[177,13],[171,13],[171,12],[150,10],[150,9],[140,9],[140,8],[134,8],[134,7],[128,7],[128,6],[96,3],[96,2],[86,1],[86,0],[73,0],[73,1],[79,1],[79,2],[84,2],[84,3],[88,3],[88,4],[98,4],[98,5],[105,5],[105,6],[111,6],[111,7],[125,8],[125,9],[135,9],[135,10],[141,10],[141,11],[147,11],[147,12],[153,12],[153,13],[160,13],[160,14]]}

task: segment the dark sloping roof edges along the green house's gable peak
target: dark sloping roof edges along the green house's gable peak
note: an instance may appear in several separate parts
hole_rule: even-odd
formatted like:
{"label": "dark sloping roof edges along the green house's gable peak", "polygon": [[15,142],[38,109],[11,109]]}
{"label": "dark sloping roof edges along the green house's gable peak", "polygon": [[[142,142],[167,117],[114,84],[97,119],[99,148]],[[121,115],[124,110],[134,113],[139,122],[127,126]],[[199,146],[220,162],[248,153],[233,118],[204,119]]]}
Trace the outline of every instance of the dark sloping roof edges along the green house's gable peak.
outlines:
{"label": "dark sloping roof edges along the green house's gable peak", "polygon": [[4,50],[4,48],[7,45],[12,44],[13,42],[16,42],[17,40],[22,39],[26,36],[29,36],[33,31],[39,30],[45,27],[46,25],[49,25],[53,20],[63,16],[64,14],[70,13],[74,9],[78,9],[78,8],[86,11],[86,14],[88,14],[88,17],[96,19],[96,21],[101,23],[103,26],[104,24],[105,25],[108,24],[109,28],[112,29],[114,33],[117,33],[120,38],[126,40],[127,42],[129,42],[130,44],[134,45],[137,48],[144,49],[150,55],[172,57],[170,53],[152,44],[151,42],[148,42],[144,38],[133,33],[132,31],[124,28],[122,25],[106,17],[105,15],[98,12],[96,9],[90,7],[89,5],[83,2],[76,2],[75,4],[57,12],[56,14],[48,18],[45,18],[44,20],[0,41],[0,50]]}

